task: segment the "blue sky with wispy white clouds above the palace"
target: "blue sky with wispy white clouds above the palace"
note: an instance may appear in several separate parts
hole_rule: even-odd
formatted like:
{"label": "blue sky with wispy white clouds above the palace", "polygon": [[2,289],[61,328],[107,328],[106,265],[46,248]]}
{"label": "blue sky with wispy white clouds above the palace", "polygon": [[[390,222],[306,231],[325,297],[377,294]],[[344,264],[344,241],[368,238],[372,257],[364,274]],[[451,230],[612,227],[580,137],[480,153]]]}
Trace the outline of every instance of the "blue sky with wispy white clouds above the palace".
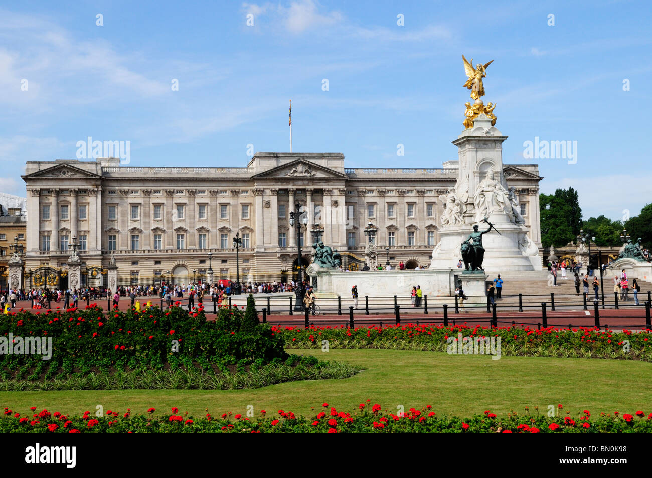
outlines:
{"label": "blue sky with wispy white clouds above the palace", "polygon": [[[246,166],[249,144],[289,150],[289,99],[295,152],[441,167],[470,100],[464,54],[494,60],[483,100],[509,136],[504,163],[538,162],[542,192],[578,189],[585,218],[636,215],[652,201],[651,13],[644,1],[5,4],[0,190],[25,196],[26,160],[74,158],[88,136],[130,141],[132,166]],[[576,141],[577,162],[524,159],[535,137]]]}

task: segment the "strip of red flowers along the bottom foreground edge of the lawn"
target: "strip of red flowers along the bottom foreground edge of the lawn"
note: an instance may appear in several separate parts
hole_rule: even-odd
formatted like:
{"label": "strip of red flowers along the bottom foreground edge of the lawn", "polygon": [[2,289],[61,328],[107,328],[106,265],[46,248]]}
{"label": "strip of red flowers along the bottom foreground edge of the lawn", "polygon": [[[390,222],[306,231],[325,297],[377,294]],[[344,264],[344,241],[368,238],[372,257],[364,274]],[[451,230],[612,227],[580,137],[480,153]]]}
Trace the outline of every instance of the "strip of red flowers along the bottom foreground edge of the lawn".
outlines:
{"label": "strip of red flowers along the bottom foreground edge of the lawn", "polygon": [[324,403],[314,417],[297,417],[291,411],[268,413],[261,410],[258,417],[225,413],[213,417],[208,409],[204,417],[195,418],[173,407],[170,413],[156,414],[150,408],[146,415],[132,415],[108,410],[96,417],[90,411],[82,417],[70,417],[48,410],[16,413],[4,409],[0,419],[0,433],[651,433],[652,413],[638,410],[632,413],[600,413],[592,416],[589,410],[576,415],[557,406],[554,417],[543,415],[535,408],[533,413],[509,413],[497,417],[486,410],[473,417],[439,417],[431,406],[421,410],[410,408],[395,415],[371,400],[361,403],[355,411],[338,411]]}

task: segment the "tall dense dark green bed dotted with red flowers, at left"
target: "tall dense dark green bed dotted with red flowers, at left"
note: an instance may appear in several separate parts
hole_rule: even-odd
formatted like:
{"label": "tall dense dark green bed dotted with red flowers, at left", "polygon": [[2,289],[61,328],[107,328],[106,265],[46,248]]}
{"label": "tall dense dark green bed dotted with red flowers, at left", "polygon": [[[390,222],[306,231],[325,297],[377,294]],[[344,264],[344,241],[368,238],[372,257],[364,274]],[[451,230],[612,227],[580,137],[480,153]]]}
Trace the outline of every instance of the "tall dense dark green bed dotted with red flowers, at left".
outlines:
{"label": "tall dense dark green bed dotted with red flowers, at left", "polygon": [[[97,305],[11,312],[0,321],[5,347],[14,349],[0,353],[0,378],[44,380],[72,373],[168,368],[244,372],[289,358],[283,339],[269,325],[256,323],[255,310],[247,316],[241,309],[222,309],[216,321],[207,321],[203,308],[188,312],[176,305],[110,314]],[[25,354],[33,338],[43,345],[52,339],[49,359],[44,360],[44,351]]]}

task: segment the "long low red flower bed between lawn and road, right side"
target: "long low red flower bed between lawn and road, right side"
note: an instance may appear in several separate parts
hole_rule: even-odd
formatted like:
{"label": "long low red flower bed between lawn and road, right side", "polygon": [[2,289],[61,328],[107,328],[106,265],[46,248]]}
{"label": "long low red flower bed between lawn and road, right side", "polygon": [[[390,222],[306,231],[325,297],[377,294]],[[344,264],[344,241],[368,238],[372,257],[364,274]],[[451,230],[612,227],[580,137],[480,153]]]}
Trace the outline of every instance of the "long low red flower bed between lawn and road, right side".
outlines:
{"label": "long low red flower bed between lawn and road, right side", "polygon": [[286,348],[321,348],[323,340],[330,348],[382,348],[447,351],[449,337],[500,337],[502,355],[540,355],[546,357],[597,357],[652,361],[652,330],[613,332],[595,327],[537,330],[525,326],[486,327],[465,324],[404,323],[378,327],[299,327],[274,326]]}

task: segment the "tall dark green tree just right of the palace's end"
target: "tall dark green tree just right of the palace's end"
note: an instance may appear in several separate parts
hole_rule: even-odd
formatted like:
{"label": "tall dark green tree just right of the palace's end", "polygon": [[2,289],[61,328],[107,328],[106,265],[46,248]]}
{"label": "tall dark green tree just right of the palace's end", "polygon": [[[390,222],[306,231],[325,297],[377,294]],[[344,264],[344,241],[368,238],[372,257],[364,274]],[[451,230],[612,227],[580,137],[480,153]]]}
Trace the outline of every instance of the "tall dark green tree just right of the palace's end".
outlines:
{"label": "tall dark green tree just right of the palace's end", "polygon": [[582,209],[577,191],[558,188],[555,194],[539,195],[541,244],[565,246],[574,241],[582,228]]}

